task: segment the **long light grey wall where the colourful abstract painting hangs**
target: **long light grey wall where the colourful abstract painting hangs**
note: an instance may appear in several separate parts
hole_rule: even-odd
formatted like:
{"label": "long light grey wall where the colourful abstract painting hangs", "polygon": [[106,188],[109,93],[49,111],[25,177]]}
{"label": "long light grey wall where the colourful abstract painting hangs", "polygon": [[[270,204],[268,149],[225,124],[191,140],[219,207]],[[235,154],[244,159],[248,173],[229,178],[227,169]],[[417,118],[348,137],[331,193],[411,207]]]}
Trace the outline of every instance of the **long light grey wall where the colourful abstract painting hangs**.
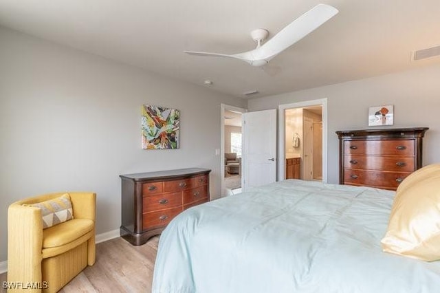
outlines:
{"label": "long light grey wall where the colourful abstract painting hangs", "polygon": [[[217,94],[0,27],[0,262],[7,210],[18,199],[95,191],[97,229],[120,226],[120,174],[212,169],[221,195],[221,103]],[[141,149],[141,105],[180,110],[180,149]]]}

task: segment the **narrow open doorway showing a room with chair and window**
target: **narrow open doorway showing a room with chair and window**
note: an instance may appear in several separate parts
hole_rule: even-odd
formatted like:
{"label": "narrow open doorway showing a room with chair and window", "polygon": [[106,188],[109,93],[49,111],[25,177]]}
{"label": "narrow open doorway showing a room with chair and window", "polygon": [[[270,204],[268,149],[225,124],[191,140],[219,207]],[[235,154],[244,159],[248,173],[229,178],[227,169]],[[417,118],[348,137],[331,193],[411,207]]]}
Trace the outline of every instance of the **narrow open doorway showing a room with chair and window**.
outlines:
{"label": "narrow open doorway showing a room with chair and window", "polygon": [[221,110],[221,196],[241,192],[243,159],[242,113],[246,109],[222,105]]}

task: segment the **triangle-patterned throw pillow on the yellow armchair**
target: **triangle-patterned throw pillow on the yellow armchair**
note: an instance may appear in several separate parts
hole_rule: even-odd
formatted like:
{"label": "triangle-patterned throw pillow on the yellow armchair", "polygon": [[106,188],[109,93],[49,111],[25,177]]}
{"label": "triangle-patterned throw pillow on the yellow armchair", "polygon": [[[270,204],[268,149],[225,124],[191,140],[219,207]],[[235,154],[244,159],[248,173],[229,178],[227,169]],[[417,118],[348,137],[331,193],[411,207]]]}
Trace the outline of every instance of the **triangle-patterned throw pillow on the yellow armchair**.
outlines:
{"label": "triangle-patterned throw pillow on the yellow armchair", "polygon": [[69,219],[73,219],[72,203],[68,193],[36,204],[27,204],[26,206],[34,206],[41,208],[41,217],[43,219],[43,229],[61,224]]}

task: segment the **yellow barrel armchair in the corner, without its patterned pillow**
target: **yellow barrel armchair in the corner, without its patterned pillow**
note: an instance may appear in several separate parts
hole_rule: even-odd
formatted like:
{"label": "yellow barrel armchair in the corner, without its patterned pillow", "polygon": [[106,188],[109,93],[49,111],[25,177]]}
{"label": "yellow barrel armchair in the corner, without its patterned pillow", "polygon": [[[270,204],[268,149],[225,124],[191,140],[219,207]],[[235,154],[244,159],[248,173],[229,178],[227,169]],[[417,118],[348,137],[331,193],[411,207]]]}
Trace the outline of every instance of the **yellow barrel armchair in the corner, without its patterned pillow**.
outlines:
{"label": "yellow barrel armchair in the corner, without its patterned pillow", "polygon": [[45,229],[41,209],[23,206],[63,194],[30,197],[9,206],[8,292],[57,292],[94,265],[96,193],[69,193],[74,219]]}

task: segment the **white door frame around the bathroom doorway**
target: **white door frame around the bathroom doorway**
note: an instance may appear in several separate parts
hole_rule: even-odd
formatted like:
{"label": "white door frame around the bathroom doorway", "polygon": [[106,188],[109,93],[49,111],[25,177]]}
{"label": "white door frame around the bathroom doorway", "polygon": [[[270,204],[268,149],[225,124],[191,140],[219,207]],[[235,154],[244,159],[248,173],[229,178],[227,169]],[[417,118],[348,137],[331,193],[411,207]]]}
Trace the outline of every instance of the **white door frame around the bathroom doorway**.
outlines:
{"label": "white door frame around the bathroom doorway", "polygon": [[285,110],[322,106],[322,182],[327,182],[327,98],[278,106],[278,181],[285,180]]}

